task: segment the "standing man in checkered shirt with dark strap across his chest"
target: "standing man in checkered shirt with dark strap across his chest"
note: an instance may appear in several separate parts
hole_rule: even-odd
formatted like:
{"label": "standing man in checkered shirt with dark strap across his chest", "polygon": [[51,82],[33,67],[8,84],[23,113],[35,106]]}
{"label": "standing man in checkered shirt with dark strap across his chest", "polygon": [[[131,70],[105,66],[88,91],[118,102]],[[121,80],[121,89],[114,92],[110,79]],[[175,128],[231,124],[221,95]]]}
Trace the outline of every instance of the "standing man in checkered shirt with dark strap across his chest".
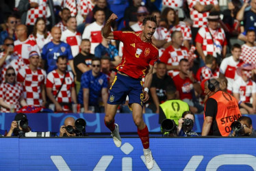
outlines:
{"label": "standing man in checkered shirt with dark strap across his chest", "polygon": [[66,56],[58,56],[56,64],[57,69],[47,75],[47,96],[55,111],[72,111],[72,103],[77,104],[73,74],[66,71]]}

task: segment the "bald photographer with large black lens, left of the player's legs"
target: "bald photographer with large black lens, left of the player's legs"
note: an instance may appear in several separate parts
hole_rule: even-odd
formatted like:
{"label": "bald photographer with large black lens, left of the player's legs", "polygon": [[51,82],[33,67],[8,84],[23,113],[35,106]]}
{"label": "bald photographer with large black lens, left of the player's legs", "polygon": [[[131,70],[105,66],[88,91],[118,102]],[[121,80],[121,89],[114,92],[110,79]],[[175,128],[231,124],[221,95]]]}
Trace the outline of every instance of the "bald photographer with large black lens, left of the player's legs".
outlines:
{"label": "bald photographer with large black lens, left of the player's legs", "polygon": [[64,125],[60,127],[60,137],[86,136],[86,120],[79,118],[75,120],[68,117],[64,120]]}

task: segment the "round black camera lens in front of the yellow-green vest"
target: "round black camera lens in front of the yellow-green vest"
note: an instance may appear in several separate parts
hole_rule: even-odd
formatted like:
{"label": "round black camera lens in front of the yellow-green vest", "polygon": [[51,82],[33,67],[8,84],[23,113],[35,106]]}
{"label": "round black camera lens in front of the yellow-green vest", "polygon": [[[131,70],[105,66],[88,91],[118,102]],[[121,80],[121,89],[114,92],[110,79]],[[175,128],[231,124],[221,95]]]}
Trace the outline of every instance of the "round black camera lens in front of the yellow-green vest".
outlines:
{"label": "round black camera lens in front of the yellow-green vest", "polygon": [[163,136],[176,137],[177,136],[177,124],[174,120],[165,119],[161,123]]}

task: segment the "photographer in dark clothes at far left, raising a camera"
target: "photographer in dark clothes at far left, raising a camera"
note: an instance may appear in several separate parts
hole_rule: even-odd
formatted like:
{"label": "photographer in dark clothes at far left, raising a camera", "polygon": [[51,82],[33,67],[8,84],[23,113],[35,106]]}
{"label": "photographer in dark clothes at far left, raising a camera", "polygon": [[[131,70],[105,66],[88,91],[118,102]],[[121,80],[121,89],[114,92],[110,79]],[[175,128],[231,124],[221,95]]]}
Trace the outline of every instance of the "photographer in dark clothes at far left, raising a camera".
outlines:
{"label": "photographer in dark clothes at far left, raising a camera", "polygon": [[27,116],[25,114],[16,114],[14,121],[12,121],[11,128],[6,137],[19,136],[25,137],[25,133],[31,131],[28,127]]}

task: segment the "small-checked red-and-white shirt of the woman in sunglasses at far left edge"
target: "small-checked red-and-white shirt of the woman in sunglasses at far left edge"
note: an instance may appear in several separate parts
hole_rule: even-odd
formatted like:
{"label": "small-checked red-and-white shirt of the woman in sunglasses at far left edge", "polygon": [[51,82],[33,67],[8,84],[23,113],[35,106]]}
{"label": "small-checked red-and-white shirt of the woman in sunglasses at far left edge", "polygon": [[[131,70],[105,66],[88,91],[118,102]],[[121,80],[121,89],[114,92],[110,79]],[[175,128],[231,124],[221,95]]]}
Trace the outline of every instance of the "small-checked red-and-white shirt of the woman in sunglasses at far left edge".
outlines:
{"label": "small-checked red-and-white shirt of the woman in sunglasses at far left edge", "polygon": [[[1,83],[0,85],[0,98],[3,99],[8,105],[15,105],[14,112],[21,108],[20,100],[23,98],[23,88],[21,83]],[[1,107],[1,112],[10,112],[10,109]]]}

